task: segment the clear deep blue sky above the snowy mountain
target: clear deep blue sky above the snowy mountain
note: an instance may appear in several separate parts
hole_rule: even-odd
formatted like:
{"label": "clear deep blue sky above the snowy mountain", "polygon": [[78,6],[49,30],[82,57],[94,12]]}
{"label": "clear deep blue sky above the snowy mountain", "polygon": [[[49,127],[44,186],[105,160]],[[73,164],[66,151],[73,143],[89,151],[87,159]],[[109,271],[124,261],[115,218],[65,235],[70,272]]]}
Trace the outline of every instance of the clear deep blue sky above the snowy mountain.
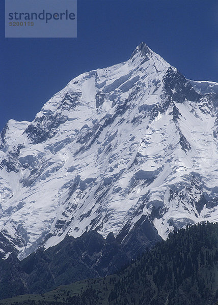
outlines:
{"label": "clear deep blue sky above the snowy mountain", "polygon": [[33,120],[72,78],[124,62],[142,41],[187,78],[218,81],[215,0],[78,0],[72,39],[5,39],[0,6],[0,130]]}

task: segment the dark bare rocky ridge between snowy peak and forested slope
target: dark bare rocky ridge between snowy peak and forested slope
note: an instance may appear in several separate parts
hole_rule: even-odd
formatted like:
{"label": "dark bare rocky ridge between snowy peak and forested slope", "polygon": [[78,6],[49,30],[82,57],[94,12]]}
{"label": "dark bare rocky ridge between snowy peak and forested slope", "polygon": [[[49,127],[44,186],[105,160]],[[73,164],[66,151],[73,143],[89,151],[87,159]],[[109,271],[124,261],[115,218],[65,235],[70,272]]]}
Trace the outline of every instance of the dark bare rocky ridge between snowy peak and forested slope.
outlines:
{"label": "dark bare rocky ridge between snowy peak and forested slope", "polygon": [[12,252],[0,259],[0,299],[17,294],[44,293],[60,285],[117,272],[162,239],[147,220],[126,236],[104,239],[96,231],[66,237],[58,245],[40,248],[23,260]]}

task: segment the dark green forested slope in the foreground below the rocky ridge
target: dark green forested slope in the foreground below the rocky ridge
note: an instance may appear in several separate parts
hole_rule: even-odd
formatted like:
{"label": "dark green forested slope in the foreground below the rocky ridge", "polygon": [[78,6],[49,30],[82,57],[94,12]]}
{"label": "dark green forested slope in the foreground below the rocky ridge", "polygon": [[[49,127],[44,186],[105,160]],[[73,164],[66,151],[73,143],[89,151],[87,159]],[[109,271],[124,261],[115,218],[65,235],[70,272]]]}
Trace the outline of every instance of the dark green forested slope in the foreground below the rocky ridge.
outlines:
{"label": "dark green forested slope in the foreground below the rocky ridge", "polygon": [[181,229],[117,275],[0,300],[0,305],[215,305],[217,246],[217,223]]}

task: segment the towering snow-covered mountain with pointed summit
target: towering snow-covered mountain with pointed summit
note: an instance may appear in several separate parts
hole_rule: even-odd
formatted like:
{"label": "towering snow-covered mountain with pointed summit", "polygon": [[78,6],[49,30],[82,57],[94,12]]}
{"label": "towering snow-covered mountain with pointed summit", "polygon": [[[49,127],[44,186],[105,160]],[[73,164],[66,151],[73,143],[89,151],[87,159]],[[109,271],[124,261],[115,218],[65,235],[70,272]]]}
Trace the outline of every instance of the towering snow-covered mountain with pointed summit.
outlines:
{"label": "towering snow-covered mountain with pointed summit", "polygon": [[9,120],[2,257],[91,229],[125,238],[143,215],[163,238],[217,221],[217,87],[187,80],[141,43],[127,62],[74,78],[32,123]]}

